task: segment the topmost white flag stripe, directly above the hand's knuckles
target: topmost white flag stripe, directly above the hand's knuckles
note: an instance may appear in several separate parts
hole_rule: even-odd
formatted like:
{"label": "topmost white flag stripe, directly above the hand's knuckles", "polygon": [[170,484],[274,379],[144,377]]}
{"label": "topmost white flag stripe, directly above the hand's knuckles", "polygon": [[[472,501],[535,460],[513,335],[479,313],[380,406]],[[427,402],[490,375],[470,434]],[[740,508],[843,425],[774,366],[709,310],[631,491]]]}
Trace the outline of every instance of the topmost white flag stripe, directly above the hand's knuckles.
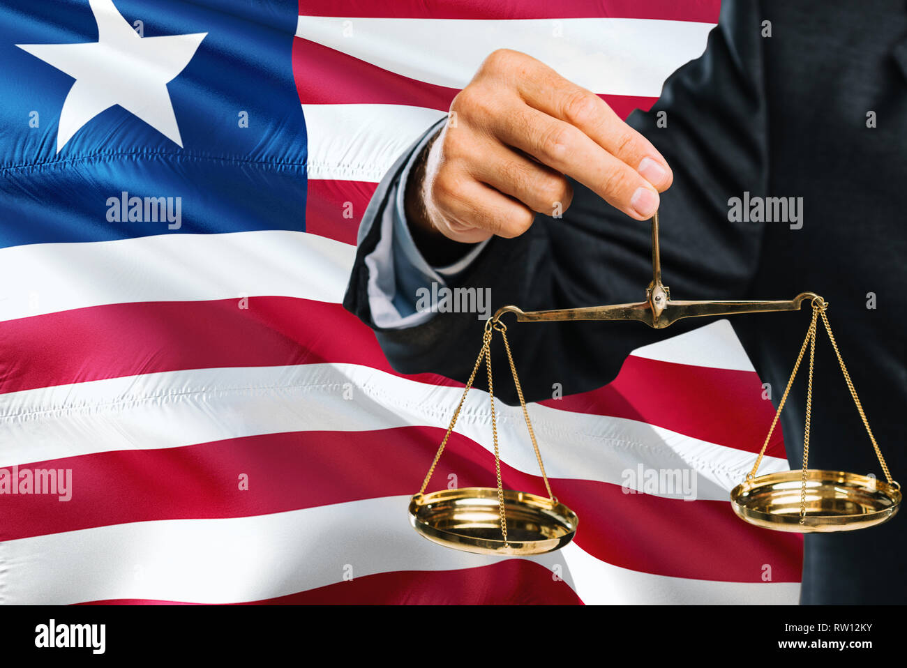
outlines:
{"label": "topmost white flag stripe, directly above the hand's knuckles", "polygon": [[506,48],[529,53],[592,92],[658,97],[665,79],[705,50],[713,27],[631,18],[555,23],[300,16],[296,34],[410,79],[457,90],[485,56]]}

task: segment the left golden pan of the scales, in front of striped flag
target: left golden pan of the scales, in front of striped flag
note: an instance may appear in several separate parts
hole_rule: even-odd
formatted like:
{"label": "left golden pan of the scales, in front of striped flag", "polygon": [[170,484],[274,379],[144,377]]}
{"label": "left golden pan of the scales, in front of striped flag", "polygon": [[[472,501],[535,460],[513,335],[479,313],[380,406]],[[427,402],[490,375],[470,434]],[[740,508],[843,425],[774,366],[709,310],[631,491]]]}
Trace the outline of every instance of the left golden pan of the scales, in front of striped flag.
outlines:
{"label": "left golden pan of the scales, in front of striped flag", "polygon": [[528,492],[504,490],[507,543],[501,536],[498,490],[442,489],[416,494],[409,521],[439,545],[483,555],[539,555],[567,545],[579,519],[560,502]]}

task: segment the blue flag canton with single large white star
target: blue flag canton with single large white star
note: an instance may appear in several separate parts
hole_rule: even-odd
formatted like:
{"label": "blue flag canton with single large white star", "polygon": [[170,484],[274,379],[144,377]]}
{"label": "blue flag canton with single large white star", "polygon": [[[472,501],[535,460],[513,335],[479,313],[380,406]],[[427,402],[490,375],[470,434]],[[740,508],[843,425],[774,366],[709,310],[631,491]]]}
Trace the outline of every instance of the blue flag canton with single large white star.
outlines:
{"label": "blue flag canton with single large white star", "polygon": [[296,25],[292,2],[4,5],[0,247],[303,230]]}

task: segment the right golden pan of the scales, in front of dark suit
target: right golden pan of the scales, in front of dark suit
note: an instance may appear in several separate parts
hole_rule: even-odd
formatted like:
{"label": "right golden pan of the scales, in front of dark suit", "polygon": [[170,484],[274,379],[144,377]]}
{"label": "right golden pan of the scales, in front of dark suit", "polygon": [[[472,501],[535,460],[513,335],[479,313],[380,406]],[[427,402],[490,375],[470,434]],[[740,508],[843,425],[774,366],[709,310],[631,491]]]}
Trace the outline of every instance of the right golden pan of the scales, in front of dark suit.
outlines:
{"label": "right golden pan of the scales, in front of dark suit", "polygon": [[770,473],[737,485],[731,506],[758,527],[797,533],[853,531],[894,517],[901,505],[895,483],[836,470],[806,470],[806,513],[800,523],[802,470]]}

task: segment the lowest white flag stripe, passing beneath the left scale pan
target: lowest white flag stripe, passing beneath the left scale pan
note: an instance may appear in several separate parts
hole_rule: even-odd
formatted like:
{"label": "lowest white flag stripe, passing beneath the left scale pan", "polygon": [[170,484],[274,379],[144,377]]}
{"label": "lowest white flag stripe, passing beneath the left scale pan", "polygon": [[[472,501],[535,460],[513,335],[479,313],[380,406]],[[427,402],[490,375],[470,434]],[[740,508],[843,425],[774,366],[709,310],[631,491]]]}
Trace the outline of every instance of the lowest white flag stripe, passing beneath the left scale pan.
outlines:
{"label": "lowest white flag stripe, passing beneath the left scale pan", "polygon": [[[392,571],[485,566],[496,557],[440,547],[406,518],[409,497],[350,501],[249,518],[118,524],[4,544],[5,604],[135,598],[236,603]],[[329,537],[329,539],[327,538]],[[795,604],[798,583],[736,583],[639,573],[570,545],[532,557],[586,603]]]}

